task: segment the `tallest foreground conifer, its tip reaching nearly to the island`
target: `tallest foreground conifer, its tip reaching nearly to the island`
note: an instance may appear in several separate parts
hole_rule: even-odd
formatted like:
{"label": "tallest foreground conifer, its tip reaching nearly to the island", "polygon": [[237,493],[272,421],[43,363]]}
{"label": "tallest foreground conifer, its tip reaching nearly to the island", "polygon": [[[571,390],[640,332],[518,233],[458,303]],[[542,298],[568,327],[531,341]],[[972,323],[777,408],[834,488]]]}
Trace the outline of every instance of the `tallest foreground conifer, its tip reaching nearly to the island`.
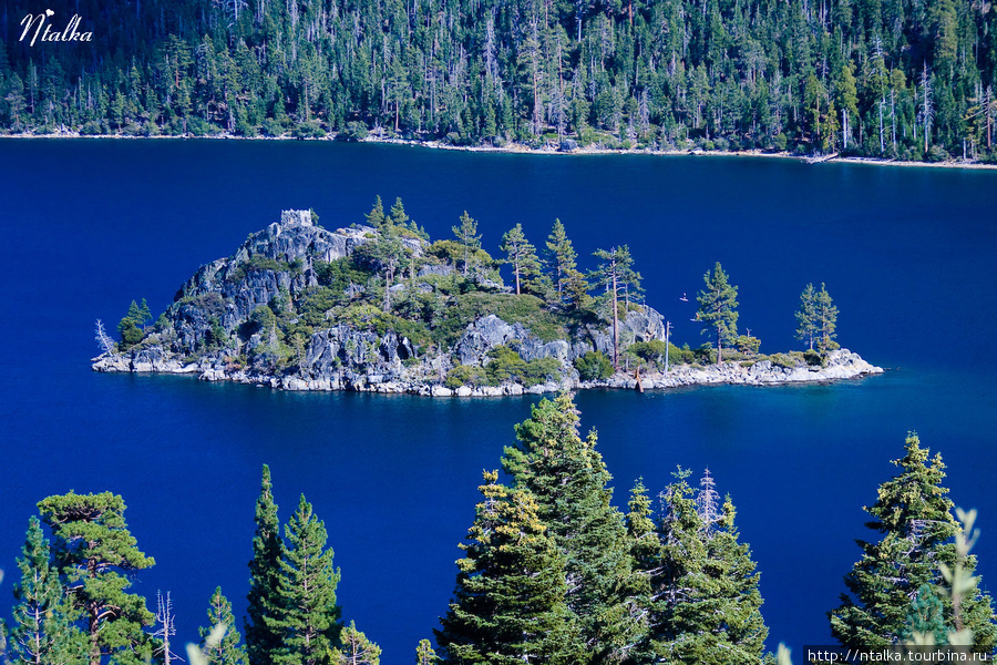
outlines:
{"label": "tallest foreground conifer, its tip reaching nearly to the island", "polygon": [[565,556],[567,604],[579,618],[586,648],[596,661],[613,658],[637,630],[627,605],[629,546],[623,515],[610,505],[611,479],[595,450],[596,434],[582,439],[572,398],[542,400],[516,426],[518,443],[502,464],[516,489],[536,498],[537,514]]}

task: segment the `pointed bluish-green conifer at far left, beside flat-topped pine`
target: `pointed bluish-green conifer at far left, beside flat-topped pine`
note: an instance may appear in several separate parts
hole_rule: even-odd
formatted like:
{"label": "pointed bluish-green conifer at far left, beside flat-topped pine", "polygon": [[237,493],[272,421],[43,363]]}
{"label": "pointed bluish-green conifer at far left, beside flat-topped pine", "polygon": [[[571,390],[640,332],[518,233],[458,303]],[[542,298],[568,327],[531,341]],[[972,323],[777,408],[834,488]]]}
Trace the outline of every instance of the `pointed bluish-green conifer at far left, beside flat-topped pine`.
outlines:
{"label": "pointed bluish-green conifer at far left, beside flat-topped pine", "polygon": [[13,663],[79,665],[85,662],[83,634],[72,625],[75,614],[65,602],[59,571],[51,563],[49,540],[38,518],[31,518],[18,559],[20,584],[14,586],[11,655]]}

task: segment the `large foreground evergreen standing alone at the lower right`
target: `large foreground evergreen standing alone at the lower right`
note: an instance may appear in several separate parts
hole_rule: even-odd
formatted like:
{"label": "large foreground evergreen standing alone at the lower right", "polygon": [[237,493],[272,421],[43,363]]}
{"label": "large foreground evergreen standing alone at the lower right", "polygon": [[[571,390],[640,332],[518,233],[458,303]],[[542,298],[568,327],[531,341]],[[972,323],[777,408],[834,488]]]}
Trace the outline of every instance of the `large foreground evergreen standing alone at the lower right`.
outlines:
{"label": "large foreground evergreen standing alone at the lower right", "polygon": [[[959,525],[952,516],[948,490],[942,487],[945,464],[921,448],[916,434],[908,434],[905,454],[893,464],[901,473],[880,485],[876,502],[863,510],[873,520],[868,529],[881,534],[878,542],[857,541],[862,559],[845,575],[849,593],[829,612],[832,635],[845,647],[878,647],[895,644],[904,633],[912,600],[924,584],[938,591],[939,564],[954,567],[955,545],[950,542]],[[965,567],[972,573],[976,557]],[[952,603],[945,598],[946,625],[952,622]],[[997,645],[997,626],[990,597],[974,590],[963,603],[963,621],[973,631],[974,651],[990,652]]]}

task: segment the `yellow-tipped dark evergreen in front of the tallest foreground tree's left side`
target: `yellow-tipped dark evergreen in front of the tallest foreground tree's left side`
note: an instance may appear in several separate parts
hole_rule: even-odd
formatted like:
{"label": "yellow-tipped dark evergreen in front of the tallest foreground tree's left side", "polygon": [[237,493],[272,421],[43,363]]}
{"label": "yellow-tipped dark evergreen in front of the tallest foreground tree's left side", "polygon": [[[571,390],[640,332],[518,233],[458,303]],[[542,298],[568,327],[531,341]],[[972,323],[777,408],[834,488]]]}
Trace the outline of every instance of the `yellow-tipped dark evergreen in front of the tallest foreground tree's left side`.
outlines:
{"label": "yellow-tipped dark evergreen in front of the tallest foreground tree's left side", "polygon": [[450,610],[434,631],[446,664],[587,662],[564,602],[564,560],[533,497],[484,472]]}

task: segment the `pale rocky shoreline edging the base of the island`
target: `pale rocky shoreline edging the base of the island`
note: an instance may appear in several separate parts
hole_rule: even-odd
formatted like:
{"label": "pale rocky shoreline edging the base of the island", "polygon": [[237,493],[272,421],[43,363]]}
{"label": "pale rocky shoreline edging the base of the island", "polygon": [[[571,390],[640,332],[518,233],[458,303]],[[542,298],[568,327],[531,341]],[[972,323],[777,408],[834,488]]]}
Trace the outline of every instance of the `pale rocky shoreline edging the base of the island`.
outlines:
{"label": "pale rocky shoreline edging the base of the island", "polygon": [[[173,374],[196,376],[202,381],[235,381],[256,385],[277,390],[354,390],[358,392],[407,393],[425,397],[502,397],[521,395],[543,395],[562,390],[586,390],[609,388],[637,390],[638,380],[628,374],[619,372],[600,381],[580,381],[577,378],[562,381],[547,381],[525,387],[521,383],[502,386],[480,386],[446,388],[440,383],[428,381],[384,380],[378,375],[357,375],[343,371],[332,378],[304,379],[298,376],[274,377],[253,374],[241,369],[229,370],[218,367],[216,362],[183,364],[176,359],[163,359],[156,354],[138,354],[135,357],[104,354],[94,359],[94,371],[135,372],[135,374]],[[798,365],[781,367],[771,360],[760,360],[747,367],[739,362],[722,365],[693,366],[681,365],[667,375],[652,374],[640,378],[640,390],[665,390],[669,388],[687,388],[692,386],[781,386],[789,383],[819,383],[856,379],[865,376],[883,374],[883,368],[871,365],[859,354],[849,349],[831,351],[823,366]]]}

